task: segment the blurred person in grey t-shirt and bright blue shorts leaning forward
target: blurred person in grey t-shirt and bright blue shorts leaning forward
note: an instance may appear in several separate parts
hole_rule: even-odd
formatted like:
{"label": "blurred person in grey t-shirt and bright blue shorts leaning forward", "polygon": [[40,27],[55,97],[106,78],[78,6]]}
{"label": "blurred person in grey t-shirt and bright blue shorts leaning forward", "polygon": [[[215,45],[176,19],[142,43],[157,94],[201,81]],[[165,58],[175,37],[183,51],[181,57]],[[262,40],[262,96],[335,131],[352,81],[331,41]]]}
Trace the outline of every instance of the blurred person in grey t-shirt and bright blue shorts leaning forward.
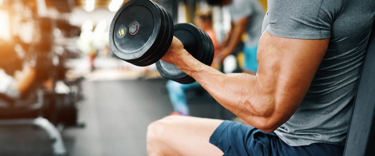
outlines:
{"label": "blurred person in grey t-shirt and bright blue shorts leaning forward", "polygon": [[261,37],[264,9],[258,0],[207,0],[212,6],[228,7],[231,14],[231,30],[220,46],[215,57],[218,65],[222,64],[226,56],[231,55],[246,33],[243,53],[245,61],[243,71],[256,73],[258,70],[257,49]]}

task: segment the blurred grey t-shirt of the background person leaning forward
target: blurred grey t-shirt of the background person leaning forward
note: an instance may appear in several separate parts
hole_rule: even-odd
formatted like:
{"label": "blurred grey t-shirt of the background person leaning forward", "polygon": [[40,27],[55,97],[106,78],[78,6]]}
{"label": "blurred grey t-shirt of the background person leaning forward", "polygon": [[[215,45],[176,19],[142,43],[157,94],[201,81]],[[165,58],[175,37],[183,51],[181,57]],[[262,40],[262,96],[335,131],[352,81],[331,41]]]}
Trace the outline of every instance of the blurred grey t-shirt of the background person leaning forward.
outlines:
{"label": "blurred grey t-shirt of the background person leaning forward", "polygon": [[264,9],[258,0],[233,0],[228,8],[232,22],[249,17],[245,45],[248,47],[257,46],[262,35],[260,32],[264,18]]}

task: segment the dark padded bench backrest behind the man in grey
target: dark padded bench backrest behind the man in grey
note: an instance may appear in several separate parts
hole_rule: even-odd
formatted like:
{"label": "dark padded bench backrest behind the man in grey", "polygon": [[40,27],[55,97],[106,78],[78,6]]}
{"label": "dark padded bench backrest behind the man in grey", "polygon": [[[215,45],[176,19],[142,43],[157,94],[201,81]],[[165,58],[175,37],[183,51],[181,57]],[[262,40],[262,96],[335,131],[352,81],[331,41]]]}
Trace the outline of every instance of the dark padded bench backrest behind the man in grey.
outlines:
{"label": "dark padded bench backrest behind the man in grey", "polygon": [[375,155],[375,24],[367,48],[349,126],[344,156]]}

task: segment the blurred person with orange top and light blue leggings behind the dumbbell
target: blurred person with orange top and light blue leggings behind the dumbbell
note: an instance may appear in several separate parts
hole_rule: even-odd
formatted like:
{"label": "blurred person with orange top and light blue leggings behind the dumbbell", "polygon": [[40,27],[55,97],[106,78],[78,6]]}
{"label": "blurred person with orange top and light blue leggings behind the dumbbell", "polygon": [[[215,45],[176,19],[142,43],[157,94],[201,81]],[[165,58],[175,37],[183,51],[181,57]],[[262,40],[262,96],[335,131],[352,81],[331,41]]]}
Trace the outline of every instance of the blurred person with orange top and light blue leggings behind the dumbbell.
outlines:
{"label": "blurred person with orange top and light blue leggings behind the dumbbell", "polygon": [[[208,36],[211,38],[215,49],[214,55],[216,55],[219,43],[216,40],[216,34],[213,30],[211,9],[203,8],[196,10],[194,24],[196,25],[196,27],[200,28],[205,33],[207,33]],[[214,65],[215,63],[213,62],[211,67],[214,67]],[[202,88],[202,86],[199,85],[199,83],[197,82],[185,85],[172,80],[168,80],[166,88],[168,90],[169,99],[171,100],[174,109],[171,115],[190,115],[185,92],[189,90]]]}

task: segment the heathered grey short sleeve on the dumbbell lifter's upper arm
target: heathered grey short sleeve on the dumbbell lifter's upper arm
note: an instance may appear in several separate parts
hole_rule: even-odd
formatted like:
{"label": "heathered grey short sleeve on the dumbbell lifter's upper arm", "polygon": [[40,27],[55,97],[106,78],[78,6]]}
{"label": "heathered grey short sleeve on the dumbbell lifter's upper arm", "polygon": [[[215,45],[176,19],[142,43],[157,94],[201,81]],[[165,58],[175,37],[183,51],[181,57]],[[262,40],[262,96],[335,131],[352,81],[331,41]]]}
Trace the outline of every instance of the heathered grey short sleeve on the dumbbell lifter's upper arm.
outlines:
{"label": "heathered grey short sleeve on the dumbbell lifter's upper arm", "polygon": [[331,3],[324,0],[268,0],[266,31],[293,39],[330,38],[331,25],[340,6]]}

